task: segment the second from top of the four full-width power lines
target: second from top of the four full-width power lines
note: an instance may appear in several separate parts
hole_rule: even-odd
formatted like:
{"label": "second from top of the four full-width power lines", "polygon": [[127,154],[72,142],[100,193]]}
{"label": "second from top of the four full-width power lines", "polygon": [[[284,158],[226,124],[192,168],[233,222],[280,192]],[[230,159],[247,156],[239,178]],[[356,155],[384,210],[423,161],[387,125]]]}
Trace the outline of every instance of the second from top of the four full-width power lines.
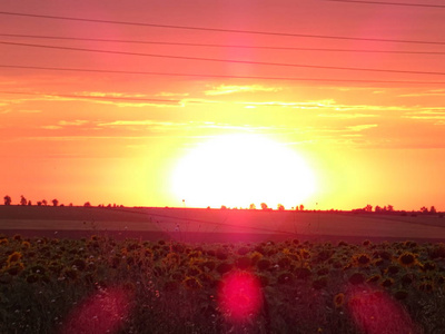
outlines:
{"label": "second from top of the four full-width power lines", "polygon": [[299,47],[270,47],[270,46],[244,46],[244,45],[214,45],[214,43],[191,43],[191,42],[166,42],[147,40],[125,40],[105,38],[81,38],[81,37],[58,37],[58,36],[37,36],[19,33],[0,33],[2,37],[18,37],[32,39],[53,39],[53,40],[75,40],[95,42],[118,42],[137,45],[160,45],[180,47],[205,47],[205,48],[243,48],[243,49],[264,49],[264,50],[287,50],[287,51],[326,51],[326,52],[364,52],[364,53],[396,53],[396,55],[445,55],[445,51],[400,51],[400,50],[370,50],[370,49],[333,49],[333,48],[299,48]]}

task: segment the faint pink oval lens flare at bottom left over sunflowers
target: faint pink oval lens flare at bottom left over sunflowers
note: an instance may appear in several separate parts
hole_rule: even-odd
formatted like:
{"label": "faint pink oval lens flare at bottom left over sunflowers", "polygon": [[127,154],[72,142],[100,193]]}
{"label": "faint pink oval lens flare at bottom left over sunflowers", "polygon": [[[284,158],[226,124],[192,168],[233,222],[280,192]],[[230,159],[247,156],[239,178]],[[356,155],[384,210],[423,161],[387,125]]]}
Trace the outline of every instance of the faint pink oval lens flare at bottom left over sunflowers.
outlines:
{"label": "faint pink oval lens flare at bottom left over sunflowers", "polygon": [[129,299],[123,289],[102,289],[72,310],[61,333],[116,333],[128,316]]}

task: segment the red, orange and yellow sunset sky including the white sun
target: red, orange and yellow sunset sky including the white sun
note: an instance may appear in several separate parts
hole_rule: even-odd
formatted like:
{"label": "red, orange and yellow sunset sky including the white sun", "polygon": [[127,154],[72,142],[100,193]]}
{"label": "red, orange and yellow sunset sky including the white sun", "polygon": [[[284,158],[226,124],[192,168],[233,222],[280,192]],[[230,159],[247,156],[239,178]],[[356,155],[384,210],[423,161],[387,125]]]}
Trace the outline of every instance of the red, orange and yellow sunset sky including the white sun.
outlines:
{"label": "red, orange and yellow sunset sky including the white sun", "polygon": [[445,210],[444,17],[388,2],[3,0],[2,197]]}

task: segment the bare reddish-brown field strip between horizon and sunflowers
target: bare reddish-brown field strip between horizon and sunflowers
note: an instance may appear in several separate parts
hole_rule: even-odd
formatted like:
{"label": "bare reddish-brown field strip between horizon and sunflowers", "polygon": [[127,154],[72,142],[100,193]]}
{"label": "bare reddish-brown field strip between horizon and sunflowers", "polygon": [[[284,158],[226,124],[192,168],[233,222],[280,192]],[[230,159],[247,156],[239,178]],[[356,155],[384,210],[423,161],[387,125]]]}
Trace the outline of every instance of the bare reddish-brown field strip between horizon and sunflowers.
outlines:
{"label": "bare reddish-brown field strip between horizon and sunflowers", "polygon": [[0,233],[82,237],[109,234],[185,242],[267,239],[445,242],[445,218],[325,212],[0,206]]}

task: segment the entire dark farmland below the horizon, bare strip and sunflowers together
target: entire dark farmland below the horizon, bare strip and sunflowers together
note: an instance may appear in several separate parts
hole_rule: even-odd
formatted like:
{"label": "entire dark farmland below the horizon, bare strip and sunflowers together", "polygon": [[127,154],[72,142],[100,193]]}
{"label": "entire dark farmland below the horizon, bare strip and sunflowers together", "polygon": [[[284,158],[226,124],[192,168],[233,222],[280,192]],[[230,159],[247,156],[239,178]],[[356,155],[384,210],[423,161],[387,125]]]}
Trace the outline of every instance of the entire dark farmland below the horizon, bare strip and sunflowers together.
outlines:
{"label": "entire dark farmland below the horizon, bare strip and sunflowers together", "polygon": [[438,216],[0,214],[0,333],[444,333]]}

